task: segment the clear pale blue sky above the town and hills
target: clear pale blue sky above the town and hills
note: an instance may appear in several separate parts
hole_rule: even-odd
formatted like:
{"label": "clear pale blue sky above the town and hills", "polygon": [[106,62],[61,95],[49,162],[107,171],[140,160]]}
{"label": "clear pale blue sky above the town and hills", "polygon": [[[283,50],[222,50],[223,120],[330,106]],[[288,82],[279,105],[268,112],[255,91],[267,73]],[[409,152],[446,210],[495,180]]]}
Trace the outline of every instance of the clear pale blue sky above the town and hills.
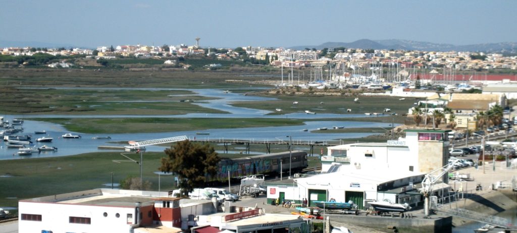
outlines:
{"label": "clear pale blue sky above the town and hills", "polygon": [[[290,47],[359,39],[517,42],[517,1],[0,0],[0,41]],[[0,44],[1,45],[1,44]]]}

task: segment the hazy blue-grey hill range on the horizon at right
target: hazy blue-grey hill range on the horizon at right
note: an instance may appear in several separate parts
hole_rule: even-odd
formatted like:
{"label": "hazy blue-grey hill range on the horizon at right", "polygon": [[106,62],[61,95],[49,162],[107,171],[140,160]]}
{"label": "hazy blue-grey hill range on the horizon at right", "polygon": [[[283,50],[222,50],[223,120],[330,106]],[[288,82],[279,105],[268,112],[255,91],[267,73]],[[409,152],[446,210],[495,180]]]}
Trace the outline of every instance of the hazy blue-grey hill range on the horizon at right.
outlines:
{"label": "hazy blue-grey hill range on the horizon at right", "polygon": [[352,49],[394,49],[394,50],[420,50],[420,51],[470,51],[470,52],[517,52],[516,42],[500,42],[485,44],[454,45],[431,43],[413,40],[368,40],[361,39],[354,42],[326,42],[320,45],[293,46],[289,49],[303,50],[305,48],[352,48]]}

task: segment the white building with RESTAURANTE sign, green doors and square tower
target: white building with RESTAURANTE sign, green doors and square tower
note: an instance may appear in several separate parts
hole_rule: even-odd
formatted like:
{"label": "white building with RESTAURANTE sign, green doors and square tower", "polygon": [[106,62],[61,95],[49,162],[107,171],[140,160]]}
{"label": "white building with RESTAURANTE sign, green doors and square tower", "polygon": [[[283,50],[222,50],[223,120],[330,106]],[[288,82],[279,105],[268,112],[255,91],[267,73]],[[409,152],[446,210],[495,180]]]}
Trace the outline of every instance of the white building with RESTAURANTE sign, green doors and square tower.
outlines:
{"label": "white building with RESTAURANTE sign, green doors and square tower", "polygon": [[[405,130],[406,137],[386,143],[356,143],[328,147],[322,157],[320,174],[292,180],[284,185],[268,185],[268,201],[280,200],[309,205],[316,200],[353,200],[359,208],[369,201],[389,199],[393,203],[416,205],[416,190],[424,175],[446,165],[450,130]],[[446,177],[444,179],[447,179]],[[447,182],[447,180],[445,180]],[[450,187],[436,185],[443,193]]]}

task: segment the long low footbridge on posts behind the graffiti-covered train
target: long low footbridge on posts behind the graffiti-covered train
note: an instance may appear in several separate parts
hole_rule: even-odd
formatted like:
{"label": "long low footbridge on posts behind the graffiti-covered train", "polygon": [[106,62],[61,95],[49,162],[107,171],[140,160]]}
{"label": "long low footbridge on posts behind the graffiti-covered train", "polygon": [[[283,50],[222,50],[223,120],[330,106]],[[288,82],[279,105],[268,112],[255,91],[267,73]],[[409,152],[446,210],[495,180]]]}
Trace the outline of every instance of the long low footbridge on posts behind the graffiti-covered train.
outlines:
{"label": "long low footbridge on posts behind the graffiti-covered train", "polygon": [[282,140],[282,139],[276,139],[276,140],[242,140],[242,139],[229,139],[229,138],[215,138],[215,139],[196,139],[195,137],[190,138],[190,141],[193,142],[200,142],[200,143],[217,143],[222,144],[224,146],[224,150],[227,153],[228,152],[228,146],[229,145],[245,145],[246,146],[246,153],[250,153],[250,144],[262,144],[266,146],[267,153],[271,153],[271,146],[272,145],[286,145],[287,150],[290,150],[293,145],[302,145],[302,146],[309,146],[309,155],[312,156],[314,154],[314,146],[337,146],[339,144],[329,143],[327,141],[302,141],[302,140],[295,140],[295,141],[289,141],[289,140]]}

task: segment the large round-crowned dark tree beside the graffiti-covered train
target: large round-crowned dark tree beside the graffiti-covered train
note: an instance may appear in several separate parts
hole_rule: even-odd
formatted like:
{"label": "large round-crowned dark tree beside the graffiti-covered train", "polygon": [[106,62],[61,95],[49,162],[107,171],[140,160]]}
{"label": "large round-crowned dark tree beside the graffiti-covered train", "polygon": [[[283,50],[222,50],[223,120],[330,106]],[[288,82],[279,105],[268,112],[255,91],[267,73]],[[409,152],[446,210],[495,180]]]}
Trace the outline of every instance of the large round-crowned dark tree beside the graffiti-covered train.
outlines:
{"label": "large round-crowned dark tree beside the graffiti-covered train", "polygon": [[203,187],[209,176],[216,175],[217,165],[221,161],[214,147],[194,144],[190,140],[178,142],[166,149],[165,154],[168,157],[161,159],[159,169],[178,175],[183,195],[187,195],[194,188]]}

